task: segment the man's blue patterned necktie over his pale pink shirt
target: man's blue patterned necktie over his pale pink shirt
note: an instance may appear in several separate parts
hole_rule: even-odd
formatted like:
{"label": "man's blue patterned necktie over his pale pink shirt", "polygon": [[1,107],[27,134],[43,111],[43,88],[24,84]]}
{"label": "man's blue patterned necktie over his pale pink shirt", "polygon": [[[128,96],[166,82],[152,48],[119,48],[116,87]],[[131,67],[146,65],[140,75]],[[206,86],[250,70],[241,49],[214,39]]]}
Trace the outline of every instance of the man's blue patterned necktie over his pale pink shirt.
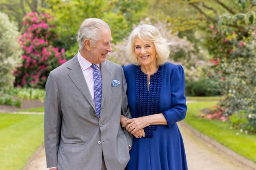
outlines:
{"label": "man's blue patterned necktie over his pale pink shirt", "polygon": [[94,104],[96,109],[96,115],[100,117],[102,80],[100,70],[97,68],[97,66],[95,64],[91,64],[91,68],[93,68]]}

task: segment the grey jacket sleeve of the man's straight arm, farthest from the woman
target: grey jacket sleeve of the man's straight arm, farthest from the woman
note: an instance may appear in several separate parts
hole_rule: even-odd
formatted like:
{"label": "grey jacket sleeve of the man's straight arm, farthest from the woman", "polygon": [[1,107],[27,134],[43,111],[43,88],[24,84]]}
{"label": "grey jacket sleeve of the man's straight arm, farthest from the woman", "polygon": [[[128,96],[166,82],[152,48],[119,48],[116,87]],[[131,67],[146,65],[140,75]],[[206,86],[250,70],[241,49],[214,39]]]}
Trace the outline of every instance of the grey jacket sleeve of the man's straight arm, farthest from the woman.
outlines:
{"label": "grey jacket sleeve of the man's straight arm, farthest from the woman", "polygon": [[52,72],[46,82],[44,111],[44,144],[47,167],[58,166],[58,150],[61,135],[60,96]]}

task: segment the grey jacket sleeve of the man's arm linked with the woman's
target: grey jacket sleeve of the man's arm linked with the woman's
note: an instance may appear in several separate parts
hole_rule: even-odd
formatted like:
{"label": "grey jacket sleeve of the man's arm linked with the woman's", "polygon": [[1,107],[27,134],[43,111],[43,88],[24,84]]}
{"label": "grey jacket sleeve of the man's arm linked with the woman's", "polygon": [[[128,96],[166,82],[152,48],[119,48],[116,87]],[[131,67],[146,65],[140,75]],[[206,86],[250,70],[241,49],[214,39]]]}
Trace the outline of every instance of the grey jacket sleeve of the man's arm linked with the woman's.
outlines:
{"label": "grey jacket sleeve of the man's arm linked with the woman's", "polygon": [[[121,114],[124,115],[125,117],[131,119],[132,115],[130,113],[130,110],[128,108],[128,99],[126,95],[127,91],[127,84],[126,84],[126,79],[124,77],[124,71],[123,69],[121,70],[122,72],[122,111]],[[128,133],[126,130],[124,130],[124,134],[126,135],[126,140],[128,142],[128,145],[132,147],[132,134]]]}

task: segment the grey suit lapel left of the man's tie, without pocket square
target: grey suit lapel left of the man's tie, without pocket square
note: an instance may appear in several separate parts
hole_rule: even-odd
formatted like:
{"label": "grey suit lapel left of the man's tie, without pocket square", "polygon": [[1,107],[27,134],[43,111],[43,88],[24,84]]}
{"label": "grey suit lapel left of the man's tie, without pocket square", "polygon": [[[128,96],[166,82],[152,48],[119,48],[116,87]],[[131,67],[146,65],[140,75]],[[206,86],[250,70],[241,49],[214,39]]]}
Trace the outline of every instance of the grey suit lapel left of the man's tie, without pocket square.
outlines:
{"label": "grey suit lapel left of the man's tie, without pocket square", "polygon": [[[69,68],[68,76],[82,93],[82,95],[86,98],[86,100],[91,104],[93,109],[95,110],[95,104],[93,99],[91,98],[91,93],[89,91],[88,85],[85,81],[84,74],[82,73],[82,69],[79,65],[77,55],[71,59],[70,64],[67,66]],[[103,89],[103,88],[102,88]]]}

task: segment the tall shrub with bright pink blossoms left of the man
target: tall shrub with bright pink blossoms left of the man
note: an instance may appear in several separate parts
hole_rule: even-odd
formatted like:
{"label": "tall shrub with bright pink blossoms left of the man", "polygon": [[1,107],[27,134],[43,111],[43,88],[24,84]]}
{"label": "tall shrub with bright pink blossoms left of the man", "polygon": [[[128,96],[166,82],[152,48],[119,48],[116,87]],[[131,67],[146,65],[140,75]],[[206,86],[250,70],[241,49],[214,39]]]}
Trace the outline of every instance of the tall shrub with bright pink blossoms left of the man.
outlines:
{"label": "tall shrub with bright pink blossoms left of the man", "polygon": [[15,86],[43,88],[51,70],[65,63],[65,49],[53,47],[56,34],[48,14],[28,13],[19,38],[22,64],[15,70]]}

